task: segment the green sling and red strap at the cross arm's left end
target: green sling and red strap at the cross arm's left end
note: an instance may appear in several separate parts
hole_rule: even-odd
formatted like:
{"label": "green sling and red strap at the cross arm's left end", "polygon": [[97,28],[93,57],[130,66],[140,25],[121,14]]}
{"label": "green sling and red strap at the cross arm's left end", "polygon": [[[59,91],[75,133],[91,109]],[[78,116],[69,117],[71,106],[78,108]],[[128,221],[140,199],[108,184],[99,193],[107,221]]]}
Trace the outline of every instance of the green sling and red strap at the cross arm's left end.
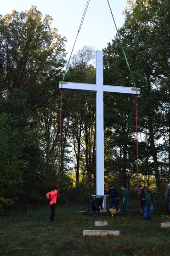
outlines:
{"label": "green sling and red strap at the cross arm's left end", "polygon": [[[81,30],[83,21],[84,21],[84,19],[85,19],[85,14],[86,14],[86,12],[87,12],[87,8],[88,8],[88,6],[89,6],[89,3],[90,3],[90,0],[87,0],[86,6],[85,6],[85,11],[84,11],[84,13],[83,13],[83,16],[82,16],[82,19],[81,19],[81,22],[80,22],[80,25],[79,25],[79,30],[78,30],[78,32],[77,32],[77,36],[76,36],[76,38],[75,38],[73,48],[72,48],[70,57],[69,57],[69,59],[68,59],[68,64],[67,64],[67,66],[66,66],[64,75],[63,75],[63,77],[62,77],[62,84],[63,84],[63,82],[64,82],[64,78],[65,78],[66,72],[67,72],[67,70],[68,70],[68,65],[69,65],[69,62],[70,62],[70,59],[71,59],[73,50],[74,50],[74,46],[75,46],[75,43],[76,43],[76,41],[77,41],[77,37],[78,37],[78,35],[79,35],[79,31]],[[59,145],[58,145],[58,186],[59,186],[59,189],[60,189],[60,168],[61,168],[61,167],[60,167],[60,162],[61,162],[61,130],[62,130],[62,85],[61,85],[61,89],[60,89],[60,97],[61,97],[61,102],[60,102],[60,125],[59,125]]]}

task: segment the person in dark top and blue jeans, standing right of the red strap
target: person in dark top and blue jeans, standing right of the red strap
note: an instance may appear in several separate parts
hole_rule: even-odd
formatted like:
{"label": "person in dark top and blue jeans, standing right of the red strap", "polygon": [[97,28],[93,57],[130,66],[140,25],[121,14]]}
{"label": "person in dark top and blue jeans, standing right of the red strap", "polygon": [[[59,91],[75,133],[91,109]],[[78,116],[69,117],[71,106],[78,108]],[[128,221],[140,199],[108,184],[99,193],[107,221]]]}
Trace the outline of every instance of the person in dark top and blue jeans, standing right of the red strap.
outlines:
{"label": "person in dark top and blue jeans, standing right of the red strap", "polygon": [[153,211],[153,198],[151,192],[148,191],[147,186],[144,186],[140,193],[140,201],[143,208],[144,220],[150,220]]}

